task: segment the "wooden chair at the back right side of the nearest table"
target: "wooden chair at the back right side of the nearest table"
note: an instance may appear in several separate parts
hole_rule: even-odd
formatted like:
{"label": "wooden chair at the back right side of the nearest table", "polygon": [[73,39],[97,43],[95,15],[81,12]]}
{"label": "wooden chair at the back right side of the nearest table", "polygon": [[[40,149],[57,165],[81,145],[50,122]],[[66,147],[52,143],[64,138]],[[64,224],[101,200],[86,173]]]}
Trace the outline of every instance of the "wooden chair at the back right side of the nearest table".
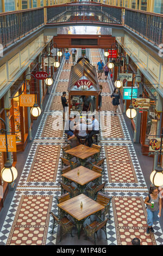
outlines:
{"label": "wooden chair at the back right side of the nearest table", "polygon": [[99,204],[105,206],[105,209],[102,210],[100,213],[97,212],[97,216],[101,213],[103,214],[103,218],[105,218],[106,214],[109,214],[109,219],[110,219],[110,203],[111,203],[111,198],[112,197],[107,197],[105,194],[102,192],[98,192],[95,201],[98,202]]}

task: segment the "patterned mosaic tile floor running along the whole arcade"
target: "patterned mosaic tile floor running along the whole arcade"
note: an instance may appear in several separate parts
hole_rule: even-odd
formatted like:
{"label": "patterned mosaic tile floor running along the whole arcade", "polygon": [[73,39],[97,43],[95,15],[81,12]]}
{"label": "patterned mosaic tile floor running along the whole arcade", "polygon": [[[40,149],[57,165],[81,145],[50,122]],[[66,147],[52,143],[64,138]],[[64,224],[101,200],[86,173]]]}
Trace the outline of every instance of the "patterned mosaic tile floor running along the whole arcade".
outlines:
{"label": "patterned mosaic tile floor running along the whole arcade", "polygon": [[[101,50],[92,49],[89,52],[91,63],[100,58],[104,62]],[[68,67],[64,62],[60,66],[52,94],[49,96],[5,218],[0,234],[0,245],[56,244],[58,228],[55,227],[52,234],[53,218],[49,216],[49,211],[53,211],[54,214],[58,212],[55,198],[61,192],[59,157],[62,156],[61,147],[65,145],[65,135],[52,129],[56,120],[53,113],[62,111],[60,97],[61,92],[67,88],[71,65],[72,59]],[[147,213],[143,200],[148,194],[147,186],[121,108],[118,107],[117,117],[112,116],[110,94],[113,87],[110,77],[108,81],[99,81],[99,84],[103,86],[102,110],[109,111],[111,120],[109,130],[105,112],[100,121],[101,130],[98,135],[99,145],[102,146],[101,157],[106,157],[103,181],[108,183],[105,193],[112,197],[110,221],[106,225],[108,245],[130,245],[131,239],[135,236],[140,238],[142,245],[163,244],[159,223],[154,226],[154,234],[146,234]],[[104,131],[102,120],[106,125]],[[73,244],[72,240],[70,244]],[[82,245],[82,240],[78,240],[78,244]],[[93,241],[89,241],[89,244],[93,245]]]}

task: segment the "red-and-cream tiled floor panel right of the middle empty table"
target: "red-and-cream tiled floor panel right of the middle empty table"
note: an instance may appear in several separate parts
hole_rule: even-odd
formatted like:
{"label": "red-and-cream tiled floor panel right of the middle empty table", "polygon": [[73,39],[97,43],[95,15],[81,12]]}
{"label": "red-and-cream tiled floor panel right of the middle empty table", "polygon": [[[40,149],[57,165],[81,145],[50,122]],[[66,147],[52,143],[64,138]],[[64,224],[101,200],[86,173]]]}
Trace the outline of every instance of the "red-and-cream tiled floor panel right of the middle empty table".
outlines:
{"label": "red-and-cream tiled floor panel right of the middle empty table", "polygon": [[105,156],[109,182],[138,182],[127,146],[105,146]]}

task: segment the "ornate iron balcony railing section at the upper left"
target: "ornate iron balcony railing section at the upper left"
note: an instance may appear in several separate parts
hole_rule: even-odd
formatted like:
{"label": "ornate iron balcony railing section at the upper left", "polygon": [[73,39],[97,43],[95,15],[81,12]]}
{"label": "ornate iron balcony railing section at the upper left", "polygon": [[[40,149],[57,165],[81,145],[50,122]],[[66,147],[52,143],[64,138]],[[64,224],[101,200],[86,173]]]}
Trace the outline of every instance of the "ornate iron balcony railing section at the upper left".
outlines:
{"label": "ornate iron balcony railing section at the upper left", "polygon": [[0,15],[0,43],[5,47],[44,23],[43,8]]}

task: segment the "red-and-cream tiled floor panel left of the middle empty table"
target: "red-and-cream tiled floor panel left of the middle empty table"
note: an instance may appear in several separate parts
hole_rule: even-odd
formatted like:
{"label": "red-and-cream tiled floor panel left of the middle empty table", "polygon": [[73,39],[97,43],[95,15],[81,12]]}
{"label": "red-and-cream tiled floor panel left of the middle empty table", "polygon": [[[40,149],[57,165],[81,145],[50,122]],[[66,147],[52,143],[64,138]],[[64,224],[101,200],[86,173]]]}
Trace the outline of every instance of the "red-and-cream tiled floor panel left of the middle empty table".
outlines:
{"label": "red-and-cream tiled floor panel left of the middle empty table", "polygon": [[27,181],[55,182],[60,149],[60,145],[37,145]]}

